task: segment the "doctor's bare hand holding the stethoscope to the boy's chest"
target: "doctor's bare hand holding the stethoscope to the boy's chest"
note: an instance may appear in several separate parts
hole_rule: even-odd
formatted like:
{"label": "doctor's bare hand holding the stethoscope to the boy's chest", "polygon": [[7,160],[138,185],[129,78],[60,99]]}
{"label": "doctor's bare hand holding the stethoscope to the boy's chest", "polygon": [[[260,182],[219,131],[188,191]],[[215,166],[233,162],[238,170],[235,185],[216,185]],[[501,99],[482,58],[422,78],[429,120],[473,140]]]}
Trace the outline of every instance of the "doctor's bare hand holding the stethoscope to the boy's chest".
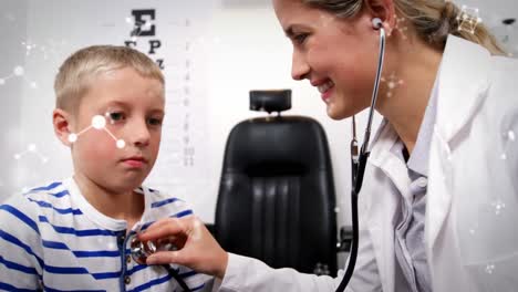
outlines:
{"label": "doctor's bare hand holding the stethoscope to the boy's chest", "polygon": [[143,242],[165,240],[178,248],[153,253],[147,264],[176,263],[219,279],[225,277],[228,254],[195,216],[158,220],[138,234],[138,239]]}

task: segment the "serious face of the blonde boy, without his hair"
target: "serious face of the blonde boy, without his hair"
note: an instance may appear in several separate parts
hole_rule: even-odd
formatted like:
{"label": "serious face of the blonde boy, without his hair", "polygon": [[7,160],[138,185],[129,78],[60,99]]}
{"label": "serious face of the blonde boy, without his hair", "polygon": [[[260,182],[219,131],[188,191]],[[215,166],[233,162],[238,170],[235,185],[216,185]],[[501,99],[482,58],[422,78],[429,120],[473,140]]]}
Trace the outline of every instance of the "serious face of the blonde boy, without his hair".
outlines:
{"label": "serious face of the blonde boy, without his hair", "polygon": [[[81,133],[92,126],[93,117],[105,117],[105,127]],[[81,133],[72,144],[75,175],[113,192],[138,187],[158,155],[163,118],[159,81],[131,67],[102,73],[82,97],[71,123],[73,133]],[[122,148],[120,139],[125,144]]]}

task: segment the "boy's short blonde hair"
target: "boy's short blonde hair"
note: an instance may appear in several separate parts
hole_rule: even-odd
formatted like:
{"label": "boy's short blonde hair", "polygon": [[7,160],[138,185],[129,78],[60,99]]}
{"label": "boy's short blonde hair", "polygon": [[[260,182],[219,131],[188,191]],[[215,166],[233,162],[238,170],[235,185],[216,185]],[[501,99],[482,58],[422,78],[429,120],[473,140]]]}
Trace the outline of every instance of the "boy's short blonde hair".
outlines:
{"label": "boy's short blonde hair", "polygon": [[76,51],[61,65],[54,81],[55,106],[75,112],[96,76],[123,67],[134,69],[143,77],[155,79],[164,87],[160,69],[144,53],[126,46],[92,45]]}

